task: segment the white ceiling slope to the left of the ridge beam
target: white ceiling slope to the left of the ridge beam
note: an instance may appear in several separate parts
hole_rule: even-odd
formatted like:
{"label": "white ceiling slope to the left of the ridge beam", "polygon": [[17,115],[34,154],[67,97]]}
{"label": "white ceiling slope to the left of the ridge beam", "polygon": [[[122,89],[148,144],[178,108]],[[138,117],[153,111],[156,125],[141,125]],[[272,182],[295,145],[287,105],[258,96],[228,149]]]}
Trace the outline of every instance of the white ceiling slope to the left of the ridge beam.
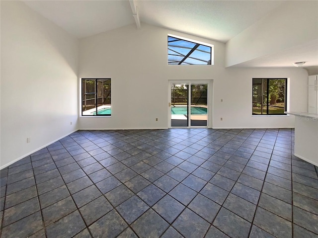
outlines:
{"label": "white ceiling slope to the left of the ridge beam", "polygon": [[79,39],[135,22],[128,1],[24,0],[23,2]]}

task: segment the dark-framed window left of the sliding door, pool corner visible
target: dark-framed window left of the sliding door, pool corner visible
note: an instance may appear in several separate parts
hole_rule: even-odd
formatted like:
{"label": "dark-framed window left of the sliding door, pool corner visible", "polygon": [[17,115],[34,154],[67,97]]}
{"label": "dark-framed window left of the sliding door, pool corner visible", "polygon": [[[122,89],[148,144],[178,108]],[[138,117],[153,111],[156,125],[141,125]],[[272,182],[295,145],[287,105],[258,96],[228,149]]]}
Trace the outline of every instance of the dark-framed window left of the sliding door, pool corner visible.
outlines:
{"label": "dark-framed window left of the sliding door, pool corner visible", "polygon": [[110,79],[81,79],[81,115],[111,115]]}

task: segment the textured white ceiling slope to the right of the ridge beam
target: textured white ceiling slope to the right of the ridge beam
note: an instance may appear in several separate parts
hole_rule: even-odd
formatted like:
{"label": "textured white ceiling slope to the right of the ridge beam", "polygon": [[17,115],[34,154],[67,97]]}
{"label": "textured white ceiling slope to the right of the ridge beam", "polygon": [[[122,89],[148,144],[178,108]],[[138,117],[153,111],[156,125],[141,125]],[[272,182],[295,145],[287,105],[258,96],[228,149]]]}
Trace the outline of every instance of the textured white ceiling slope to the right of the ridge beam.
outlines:
{"label": "textured white ceiling slope to the right of the ridge beam", "polygon": [[140,19],[192,35],[227,42],[284,1],[138,1]]}

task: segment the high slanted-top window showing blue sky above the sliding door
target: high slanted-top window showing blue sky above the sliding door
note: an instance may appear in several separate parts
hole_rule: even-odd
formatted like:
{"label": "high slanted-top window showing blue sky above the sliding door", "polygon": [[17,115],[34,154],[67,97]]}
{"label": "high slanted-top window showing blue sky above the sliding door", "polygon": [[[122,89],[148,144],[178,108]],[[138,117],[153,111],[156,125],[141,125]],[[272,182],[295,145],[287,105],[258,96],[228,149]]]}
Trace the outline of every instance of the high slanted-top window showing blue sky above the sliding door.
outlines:
{"label": "high slanted-top window showing blue sky above the sliding door", "polygon": [[213,65],[212,48],[168,35],[168,65]]}

